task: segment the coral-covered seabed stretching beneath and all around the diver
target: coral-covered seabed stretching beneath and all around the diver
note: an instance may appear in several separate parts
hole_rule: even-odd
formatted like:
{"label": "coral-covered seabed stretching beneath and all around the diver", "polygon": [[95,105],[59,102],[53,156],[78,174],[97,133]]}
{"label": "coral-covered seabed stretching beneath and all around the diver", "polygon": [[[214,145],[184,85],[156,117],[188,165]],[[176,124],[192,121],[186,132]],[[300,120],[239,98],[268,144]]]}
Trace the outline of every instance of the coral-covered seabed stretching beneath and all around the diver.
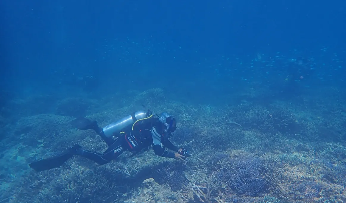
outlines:
{"label": "coral-covered seabed stretching beneath and all around the diver", "polygon": [[[346,202],[344,105],[314,98],[312,108],[305,100],[212,107],[167,98],[163,90],[151,89],[115,101],[41,95],[4,103],[0,202]],[[29,110],[31,103],[40,105]],[[52,106],[40,108],[43,103]],[[74,143],[104,151],[107,145],[99,136],[73,129],[70,121],[86,116],[104,126],[141,105],[176,116],[171,140],[191,151],[186,162],[158,157],[149,147],[102,166],[75,156],[60,168],[35,172],[28,167]],[[14,117],[9,111],[14,107],[28,111]]]}

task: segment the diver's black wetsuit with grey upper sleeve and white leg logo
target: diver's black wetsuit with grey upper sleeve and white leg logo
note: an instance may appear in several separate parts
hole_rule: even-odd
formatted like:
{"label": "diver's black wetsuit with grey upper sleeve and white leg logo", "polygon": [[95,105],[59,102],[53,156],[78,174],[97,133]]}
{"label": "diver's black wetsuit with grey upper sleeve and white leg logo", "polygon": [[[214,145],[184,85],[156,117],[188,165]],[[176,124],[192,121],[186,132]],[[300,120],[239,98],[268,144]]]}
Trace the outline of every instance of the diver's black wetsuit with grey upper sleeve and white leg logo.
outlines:
{"label": "diver's black wetsuit with grey upper sleeve and white leg logo", "polygon": [[82,157],[91,159],[98,164],[103,165],[113,159],[116,159],[120,154],[122,154],[122,152],[126,150],[136,152],[145,147],[153,145],[153,150],[156,155],[174,158],[174,153],[167,152],[161,147],[161,144],[175,152],[177,152],[179,149],[169,141],[166,135],[164,135],[164,130],[159,122],[139,123],[134,126],[133,130],[123,133],[121,136],[117,137],[116,140],[106,137],[100,128],[99,130],[95,131],[109,146],[106,151],[101,154],[98,152],[84,150],[79,145],[74,145],[70,148],[70,152],[76,155],[81,155]]}

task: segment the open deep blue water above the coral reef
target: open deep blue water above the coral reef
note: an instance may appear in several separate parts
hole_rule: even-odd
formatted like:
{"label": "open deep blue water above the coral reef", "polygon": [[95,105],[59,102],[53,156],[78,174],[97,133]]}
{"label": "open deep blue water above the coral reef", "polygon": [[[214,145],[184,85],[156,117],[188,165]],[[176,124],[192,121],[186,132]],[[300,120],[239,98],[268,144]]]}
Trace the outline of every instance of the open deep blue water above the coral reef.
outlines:
{"label": "open deep blue water above the coral reef", "polygon": [[[328,130],[345,138],[345,1],[2,0],[0,16],[3,151],[21,143],[11,138],[18,120],[41,114],[71,116],[56,111],[55,104],[66,98],[92,101],[85,104],[89,112],[73,114],[87,116],[105,112],[111,102],[124,107],[129,98],[153,88],[185,108],[247,102],[256,108],[279,101],[316,110],[320,98],[326,109],[314,111],[315,116],[326,119],[325,125],[328,118],[337,118],[332,114],[339,115],[341,120],[333,124],[338,129]],[[136,103],[155,108],[152,104]],[[302,120],[310,122],[308,117]],[[48,134],[56,134],[53,131]],[[323,131],[320,138],[328,140],[333,133]],[[335,144],[343,146],[344,141],[337,138]],[[331,201],[312,196],[316,202]]]}

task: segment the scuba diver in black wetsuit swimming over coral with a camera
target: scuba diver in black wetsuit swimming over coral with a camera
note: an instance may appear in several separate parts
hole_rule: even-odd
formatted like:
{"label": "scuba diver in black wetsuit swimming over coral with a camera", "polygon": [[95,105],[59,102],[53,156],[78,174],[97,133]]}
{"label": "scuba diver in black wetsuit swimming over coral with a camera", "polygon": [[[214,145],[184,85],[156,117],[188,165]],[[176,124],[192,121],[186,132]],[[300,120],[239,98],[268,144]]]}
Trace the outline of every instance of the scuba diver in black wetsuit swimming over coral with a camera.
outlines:
{"label": "scuba diver in black wetsuit swimming over coral with a camera", "polygon": [[[31,168],[43,171],[60,167],[73,155],[80,155],[103,165],[116,159],[126,150],[136,154],[150,145],[153,145],[155,154],[161,157],[184,161],[186,157],[191,156],[186,149],[179,148],[169,141],[176,129],[176,119],[168,113],[157,116],[151,113],[150,109],[147,112],[137,111],[103,128],[99,127],[97,121],[83,117],[73,120],[71,124],[80,130],[94,130],[106,142],[108,149],[98,153],[75,144],[63,154],[30,163]],[[116,139],[113,139],[113,136]],[[166,151],[166,147],[175,153]]]}

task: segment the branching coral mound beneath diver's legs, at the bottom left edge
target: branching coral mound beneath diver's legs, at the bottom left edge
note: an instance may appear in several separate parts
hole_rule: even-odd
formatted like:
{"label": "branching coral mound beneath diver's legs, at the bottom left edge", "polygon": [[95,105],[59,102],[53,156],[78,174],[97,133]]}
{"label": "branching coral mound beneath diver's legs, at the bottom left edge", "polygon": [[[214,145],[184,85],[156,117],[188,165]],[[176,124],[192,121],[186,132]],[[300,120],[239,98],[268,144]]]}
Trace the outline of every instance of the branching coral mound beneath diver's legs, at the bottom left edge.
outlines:
{"label": "branching coral mound beneath diver's legs, at the bottom left edge", "polygon": [[71,169],[53,169],[41,172],[42,178],[31,174],[22,180],[11,202],[96,202],[100,199],[119,199],[126,188],[120,187],[116,175],[103,176],[99,172],[72,164]]}

